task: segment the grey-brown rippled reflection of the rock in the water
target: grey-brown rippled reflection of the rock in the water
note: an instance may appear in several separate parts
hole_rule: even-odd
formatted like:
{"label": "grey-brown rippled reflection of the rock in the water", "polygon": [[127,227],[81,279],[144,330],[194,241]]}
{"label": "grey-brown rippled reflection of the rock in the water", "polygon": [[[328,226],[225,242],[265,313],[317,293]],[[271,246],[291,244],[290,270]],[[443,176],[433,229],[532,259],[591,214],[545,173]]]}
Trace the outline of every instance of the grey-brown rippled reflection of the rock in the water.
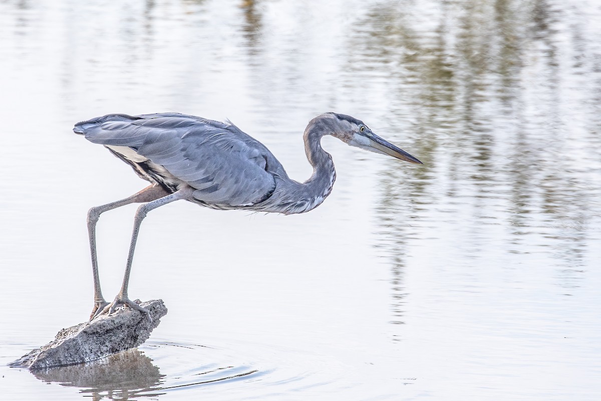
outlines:
{"label": "grey-brown rippled reflection of the rock in the water", "polygon": [[156,397],[162,378],[159,368],[138,349],[130,349],[86,364],[34,370],[45,382],[79,387],[93,400],[129,400],[133,397]]}

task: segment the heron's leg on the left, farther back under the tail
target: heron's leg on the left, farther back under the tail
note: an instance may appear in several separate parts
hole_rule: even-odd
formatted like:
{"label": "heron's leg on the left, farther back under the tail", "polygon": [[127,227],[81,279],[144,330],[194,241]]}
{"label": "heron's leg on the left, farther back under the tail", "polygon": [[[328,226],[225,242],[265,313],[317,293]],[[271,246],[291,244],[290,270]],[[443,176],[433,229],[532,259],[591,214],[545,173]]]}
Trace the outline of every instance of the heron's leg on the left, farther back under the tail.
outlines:
{"label": "heron's leg on the left, farther back under the tail", "polygon": [[108,210],[116,209],[117,207],[125,206],[126,204],[150,202],[158,198],[162,198],[165,195],[168,195],[168,192],[166,192],[165,189],[153,184],[147,186],[146,188],[142,189],[142,191],[139,191],[130,197],[103,204],[102,206],[92,207],[90,210],[88,210],[88,237],[90,239],[90,255],[92,258],[92,274],[94,277],[94,308],[90,314],[90,320],[97,312],[101,311],[106,305],[108,305],[108,302],[105,301],[105,298],[102,296],[102,291],[100,290],[98,259],[96,253],[96,223],[98,222],[100,215]]}

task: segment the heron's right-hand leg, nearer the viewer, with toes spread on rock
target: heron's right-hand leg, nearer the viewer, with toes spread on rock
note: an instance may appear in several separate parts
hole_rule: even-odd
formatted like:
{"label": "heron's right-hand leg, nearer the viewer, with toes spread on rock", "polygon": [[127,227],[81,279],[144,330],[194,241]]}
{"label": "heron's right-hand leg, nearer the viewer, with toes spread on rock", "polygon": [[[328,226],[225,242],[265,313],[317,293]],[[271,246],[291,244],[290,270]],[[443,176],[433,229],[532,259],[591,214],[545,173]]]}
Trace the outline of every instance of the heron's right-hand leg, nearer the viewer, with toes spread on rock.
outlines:
{"label": "heron's right-hand leg, nearer the viewer, with toes spread on rock", "polygon": [[176,201],[176,200],[180,200],[180,199],[191,199],[193,191],[194,191],[194,189],[189,188],[189,187],[180,189],[179,191],[174,192],[171,195],[167,195],[166,197],[162,197],[157,200],[153,200],[151,202],[142,204],[138,207],[138,210],[136,210],[135,218],[133,219],[132,242],[129,245],[129,254],[127,255],[127,265],[125,267],[125,274],[123,276],[123,285],[121,286],[121,290],[119,291],[118,295],[115,297],[115,300],[113,302],[111,302],[111,304],[106,305],[103,308],[103,310],[100,312],[100,314],[102,314],[102,313],[111,314],[115,311],[115,309],[118,307],[119,304],[123,304],[123,305],[127,305],[133,309],[137,309],[141,312],[146,313],[148,316],[148,319],[152,319],[150,317],[150,313],[148,312],[148,310],[146,310],[145,308],[142,308],[140,305],[136,304],[135,302],[130,301],[130,299],[127,296],[127,286],[129,286],[129,275],[132,270],[133,252],[136,249],[136,241],[138,240],[140,224],[142,223],[142,220],[146,217],[147,213],[150,212],[150,210],[153,210],[159,206],[163,206],[165,204],[171,203],[172,201]]}

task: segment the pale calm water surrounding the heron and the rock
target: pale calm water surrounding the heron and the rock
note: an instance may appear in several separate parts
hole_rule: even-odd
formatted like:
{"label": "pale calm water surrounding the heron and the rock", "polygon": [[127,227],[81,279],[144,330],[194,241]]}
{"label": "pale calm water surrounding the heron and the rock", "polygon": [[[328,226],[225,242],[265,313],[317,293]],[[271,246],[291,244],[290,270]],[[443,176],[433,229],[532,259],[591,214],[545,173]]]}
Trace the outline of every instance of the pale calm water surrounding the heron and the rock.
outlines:
{"label": "pale calm water surrounding the heron and the rock", "polygon": [[[0,1],[0,399],[598,400],[599,26],[594,0]],[[85,213],[145,186],[73,123],[165,111],[230,118],[297,180],[325,111],[424,165],[325,138],[311,213],[156,210],[150,340],[5,367],[86,319]],[[99,223],[109,298],[135,207]]]}

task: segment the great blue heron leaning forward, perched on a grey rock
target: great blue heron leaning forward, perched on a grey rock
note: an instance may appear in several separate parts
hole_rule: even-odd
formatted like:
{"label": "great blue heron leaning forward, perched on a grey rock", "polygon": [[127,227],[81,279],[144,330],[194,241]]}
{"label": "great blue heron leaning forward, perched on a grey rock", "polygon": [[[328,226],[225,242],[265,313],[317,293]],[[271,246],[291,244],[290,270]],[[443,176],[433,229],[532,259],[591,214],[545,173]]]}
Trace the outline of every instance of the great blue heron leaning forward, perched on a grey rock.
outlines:
{"label": "great blue heron leaning forward, perched on a grey rock", "polygon": [[[94,308],[90,319],[128,305],[148,314],[127,296],[133,252],[142,219],[150,210],[185,199],[213,209],[243,209],[260,212],[308,212],[319,206],[332,191],[336,178],[332,156],[323,150],[321,139],[332,135],[349,145],[421,162],[380,138],[349,115],[328,112],[313,118],[304,133],[305,153],[313,175],[304,183],[288,178],[284,167],[256,139],[231,122],[206,120],[177,113],[130,116],[109,114],[75,124],[73,130],[95,144],[105,145],[115,156],[132,166],[151,185],[88,212],[88,234],[94,276]],[[96,222],[100,214],[130,203],[144,203],[136,211],[123,285],[109,304],[100,291],[96,259]],[[150,314],[148,314],[150,317]]]}

